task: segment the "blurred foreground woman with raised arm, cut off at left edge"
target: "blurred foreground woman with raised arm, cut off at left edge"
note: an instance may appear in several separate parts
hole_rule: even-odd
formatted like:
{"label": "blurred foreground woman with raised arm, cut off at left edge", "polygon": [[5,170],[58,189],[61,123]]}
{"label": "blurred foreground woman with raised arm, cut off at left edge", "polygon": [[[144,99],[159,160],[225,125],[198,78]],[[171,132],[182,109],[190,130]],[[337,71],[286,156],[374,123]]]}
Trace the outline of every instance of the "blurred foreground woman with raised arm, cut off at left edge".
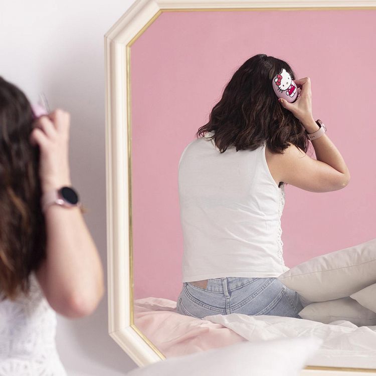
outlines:
{"label": "blurred foreground woman with raised arm, cut off at left edge", "polygon": [[74,194],[69,126],[60,109],[35,120],[25,94],[0,77],[1,375],[65,375],[55,311],[89,315],[104,292],[79,206],[49,200],[63,186]]}

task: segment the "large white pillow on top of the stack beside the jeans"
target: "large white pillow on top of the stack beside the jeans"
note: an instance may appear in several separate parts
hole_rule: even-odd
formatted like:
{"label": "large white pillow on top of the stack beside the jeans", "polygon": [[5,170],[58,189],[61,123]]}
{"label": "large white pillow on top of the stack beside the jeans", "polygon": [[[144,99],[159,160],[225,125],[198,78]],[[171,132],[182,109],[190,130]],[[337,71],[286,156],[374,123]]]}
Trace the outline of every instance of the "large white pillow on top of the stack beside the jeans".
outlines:
{"label": "large white pillow on top of the stack beside the jeans", "polygon": [[278,279],[306,302],[348,297],[376,283],[376,239],[314,257]]}

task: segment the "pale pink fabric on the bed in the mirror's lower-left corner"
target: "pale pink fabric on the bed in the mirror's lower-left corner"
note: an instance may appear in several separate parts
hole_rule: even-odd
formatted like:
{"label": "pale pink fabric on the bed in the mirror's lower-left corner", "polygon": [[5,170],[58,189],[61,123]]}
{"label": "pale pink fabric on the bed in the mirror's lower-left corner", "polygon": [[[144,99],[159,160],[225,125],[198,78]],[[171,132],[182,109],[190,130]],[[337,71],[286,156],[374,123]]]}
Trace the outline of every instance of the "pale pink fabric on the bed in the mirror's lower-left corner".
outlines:
{"label": "pale pink fabric on the bed in the mirror's lower-left corner", "polygon": [[163,298],[135,300],[134,323],[166,357],[247,341],[224,325],[176,313],[176,302]]}

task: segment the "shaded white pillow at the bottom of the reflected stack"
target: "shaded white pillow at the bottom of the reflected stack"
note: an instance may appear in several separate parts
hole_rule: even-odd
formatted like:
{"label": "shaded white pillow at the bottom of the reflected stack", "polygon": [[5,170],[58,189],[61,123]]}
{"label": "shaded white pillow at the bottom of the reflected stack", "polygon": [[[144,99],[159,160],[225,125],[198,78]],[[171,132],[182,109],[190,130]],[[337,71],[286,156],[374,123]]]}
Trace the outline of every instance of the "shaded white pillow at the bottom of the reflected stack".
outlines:
{"label": "shaded white pillow at the bottom of the reflected stack", "polygon": [[299,312],[299,315],[306,320],[324,324],[347,320],[357,326],[376,325],[376,313],[364,308],[350,297],[309,304]]}

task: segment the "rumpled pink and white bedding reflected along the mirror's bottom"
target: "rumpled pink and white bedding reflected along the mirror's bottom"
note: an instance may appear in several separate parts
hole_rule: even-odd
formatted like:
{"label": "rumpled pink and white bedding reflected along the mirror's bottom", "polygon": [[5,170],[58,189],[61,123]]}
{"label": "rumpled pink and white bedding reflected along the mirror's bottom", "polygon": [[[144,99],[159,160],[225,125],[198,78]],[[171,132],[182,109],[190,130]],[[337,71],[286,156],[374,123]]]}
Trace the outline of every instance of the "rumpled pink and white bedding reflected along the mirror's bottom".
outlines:
{"label": "rumpled pink and white bedding reflected along the mirror's bottom", "polygon": [[299,336],[323,339],[308,365],[376,368],[376,326],[346,320],[323,324],[282,316],[232,313],[203,319],[176,313],[176,302],[164,298],[134,301],[134,323],[166,356],[179,356],[241,341]]}

